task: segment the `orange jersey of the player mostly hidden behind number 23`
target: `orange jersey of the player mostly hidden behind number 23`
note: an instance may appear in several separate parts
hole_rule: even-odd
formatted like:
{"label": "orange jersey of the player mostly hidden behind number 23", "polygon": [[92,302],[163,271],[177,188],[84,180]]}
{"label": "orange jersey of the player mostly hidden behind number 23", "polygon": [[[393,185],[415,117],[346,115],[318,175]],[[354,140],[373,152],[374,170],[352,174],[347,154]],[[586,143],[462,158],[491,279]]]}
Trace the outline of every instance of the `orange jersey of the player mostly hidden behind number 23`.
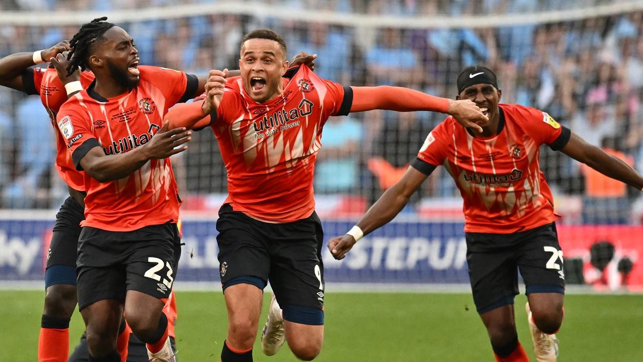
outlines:
{"label": "orange jersey of the player mostly hidden behind number 23", "polygon": [[[91,71],[82,71],[80,73],[80,84],[83,88],[87,88],[93,80],[94,73]],[[27,94],[39,94],[42,106],[49,113],[51,125],[56,135],[56,169],[60,177],[69,187],[78,191],[85,191],[84,173],[77,171],[73,162],[71,162],[67,141],[60,134],[56,125],[56,115],[62,104],[67,101],[67,91],[62,85],[55,68],[29,68],[23,75],[23,87]]]}

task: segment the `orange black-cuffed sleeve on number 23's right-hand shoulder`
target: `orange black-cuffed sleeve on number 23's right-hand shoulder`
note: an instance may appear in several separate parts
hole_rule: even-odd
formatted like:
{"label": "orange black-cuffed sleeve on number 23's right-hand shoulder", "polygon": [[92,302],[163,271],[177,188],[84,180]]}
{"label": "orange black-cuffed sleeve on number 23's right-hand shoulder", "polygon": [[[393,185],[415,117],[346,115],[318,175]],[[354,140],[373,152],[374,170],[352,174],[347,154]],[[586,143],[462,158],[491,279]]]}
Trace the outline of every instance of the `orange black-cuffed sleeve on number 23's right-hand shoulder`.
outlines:
{"label": "orange black-cuffed sleeve on number 23's right-hand shoulder", "polygon": [[150,74],[149,79],[156,83],[159,90],[167,99],[167,107],[176,103],[186,102],[194,97],[199,86],[196,75],[186,74],[183,71],[149,66],[144,68]]}

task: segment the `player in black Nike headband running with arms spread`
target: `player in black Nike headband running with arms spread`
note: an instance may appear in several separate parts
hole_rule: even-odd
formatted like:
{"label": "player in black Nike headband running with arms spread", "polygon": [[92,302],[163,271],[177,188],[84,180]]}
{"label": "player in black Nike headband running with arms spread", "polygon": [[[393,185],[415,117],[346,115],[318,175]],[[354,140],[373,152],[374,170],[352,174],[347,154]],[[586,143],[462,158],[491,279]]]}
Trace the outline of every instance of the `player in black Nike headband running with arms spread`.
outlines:
{"label": "player in black Nike headband running with arms spread", "polygon": [[456,99],[469,99],[489,117],[475,133],[448,117],[426,137],[417,158],[349,233],[329,249],[343,259],[365,234],[390,222],[435,167],[453,176],[464,199],[467,263],[476,309],[496,361],[528,361],[514,322],[518,273],[527,285],[528,321],[538,361],[556,361],[554,333],[563,320],[563,252],[552,193],[539,168],[539,146],[583,162],[641,189],[643,178],[625,162],[586,143],[550,115],[517,104],[499,104],[496,75],[471,66],[457,79]]}

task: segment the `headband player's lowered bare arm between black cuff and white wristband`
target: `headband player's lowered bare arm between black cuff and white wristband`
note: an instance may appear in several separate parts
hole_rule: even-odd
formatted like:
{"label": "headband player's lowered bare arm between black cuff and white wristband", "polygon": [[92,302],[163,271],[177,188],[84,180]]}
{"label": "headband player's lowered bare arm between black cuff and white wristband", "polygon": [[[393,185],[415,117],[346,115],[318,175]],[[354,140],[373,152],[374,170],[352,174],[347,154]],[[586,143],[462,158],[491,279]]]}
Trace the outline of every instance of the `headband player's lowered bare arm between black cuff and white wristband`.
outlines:
{"label": "headband player's lowered bare arm between black cuff and white wristband", "polygon": [[366,235],[393,220],[408,204],[408,199],[420,188],[427,177],[424,173],[409,166],[402,178],[387,189],[368,209],[364,217],[359,220],[358,227]]}

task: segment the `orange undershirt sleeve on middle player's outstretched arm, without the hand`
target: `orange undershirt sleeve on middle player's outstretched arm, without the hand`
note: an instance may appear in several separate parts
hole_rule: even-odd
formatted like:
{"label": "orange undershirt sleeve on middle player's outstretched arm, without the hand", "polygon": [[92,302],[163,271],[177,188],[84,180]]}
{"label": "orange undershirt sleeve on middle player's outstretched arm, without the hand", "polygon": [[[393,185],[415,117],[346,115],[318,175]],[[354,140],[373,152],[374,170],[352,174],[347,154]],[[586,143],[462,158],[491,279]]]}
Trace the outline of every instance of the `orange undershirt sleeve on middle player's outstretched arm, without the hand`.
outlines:
{"label": "orange undershirt sleeve on middle player's outstretched arm, without the hand", "polygon": [[370,110],[391,111],[436,111],[448,113],[449,99],[435,97],[403,87],[351,87],[353,103],[351,112]]}

